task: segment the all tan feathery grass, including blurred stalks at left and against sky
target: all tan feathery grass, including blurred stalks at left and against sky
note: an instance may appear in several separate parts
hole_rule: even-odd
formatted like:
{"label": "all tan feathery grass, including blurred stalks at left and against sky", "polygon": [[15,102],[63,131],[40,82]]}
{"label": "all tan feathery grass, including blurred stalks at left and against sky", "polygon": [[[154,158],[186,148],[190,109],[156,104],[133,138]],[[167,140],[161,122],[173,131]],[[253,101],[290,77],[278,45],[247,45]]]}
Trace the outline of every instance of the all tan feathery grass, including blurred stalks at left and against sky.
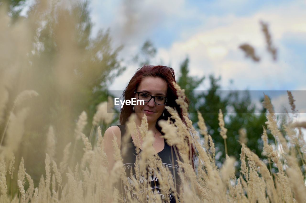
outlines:
{"label": "all tan feathery grass, including blurred stalks at left and against sky", "polygon": [[[52,13],[52,10],[48,11],[47,9],[47,2],[42,2],[42,4],[37,5],[38,7],[36,9],[38,11],[39,9],[43,9],[46,13]],[[301,131],[301,128],[305,127],[305,122],[293,122],[294,118],[287,115],[289,122],[284,126],[285,134],[282,134],[277,125],[278,121],[273,106],[267,95],[265,95],[263,102],[263,106],[267,109],[267,129],[271,131],[275,138],[276,146],[278,147],[273,148],[268,143],[267,129],[263,127],[263,153],[269,160],[269,163],[266,164],[263,160],[259,159],[252,149],[247,147],[245,132],[241,130],[241,170],[239,171],[239,177],[236,177],[235,160],[229,157],[226,151],[225,162],[222,167],[218,168],[216,166],[215,145],[213,138],[207,132],[202,114],[198,112],[197,124],[200,129],[195,129],[188,118],[188,105],[184,101],[184,90],[181,90],[175,84],[179,96],[176,102],[183,110],[187,125],[183,123],[176,110],[170,107],[166,107],[166,110],[170,112],[174,122],[169,119],[168,121],[160,121],[159,125],[162,127],[162,132],[165,133],[164,138],[167,140],[167,144],[170,146],[176,145],[178,151],[175,150],[174,154],[177,156],[179,154],[181,158],[178,162],[178,174],[181,180],[179,188],[176,187],[178,183],[176,179],[171,178],[170,169],[165,167],[159,156],[154,154],[154,148],[152,147],[153,133],[147,130],[146,117],[143,118],[140,129],[143,139],[142,148],[144,150],[140,151],[140,148],[136,147],[136,175],[133,176],[131,174],[128,177],[131,181],[128,181],[123,168],[122,154],[125,153],[127,140],[131,136],[131,133],[136,132],[135,117],[132,115],[129,118],[128,125],[131,126],[129,128],[131,131],[128,130],[123,137],[123,143],[121,143],[123,146],[122,151],[118,147],[116,139],[112,143],[104,143],[102,132],[110,125],[114,116],[114,113],[110,109],[112,106],[110,99],[97,105],[97,112],[92,118],[88,117],[86,111],[80,113],[73,127],[69,125],[67,118],[70,118],[70,114],[74,111],[68,107],[68,109],[59,108],[59,112],[55,112],[55,115],[57,115],[56,113],[59,113],[59,115],[69,115],[58,121],[60,124],[58,126],[64,126],[65,128],[58,129],[53,124],[39,122],[43,117],[39,114],[44,113],[43,108],[40,108],[41,111],[35,114],[37,118],[33,122],[29,117],[32,116],[31,118],[33,118],[32,113],[38,111],[30,109],[29,106],[33,108],[31,105],[33,101],[32,97],[39,98],[40,95],[34,90],[23,90],[23,85],[28,82],[26,81],[28,78],[24,77],[24,75],[29,73],[29,75],[35,75],[36,72],[40,71],[37,67],[37,69],[34,69],[33,66],[28,64],[28,53],[34,55],[36,52],[39,52],[41,47],[37,40],[39,37],[37,36],[37,33],[39,33],[37,30],[41,29],[43,25],[36,24],[37,21],[35,21],[34,17],[38,17],[38,15],[32,15],[32,18],[29,20],[20,21],[15,25],[11,25],[9,17],[4,13],[4,11],[0,11],[0,125],[2,127],[2,131],[0,132],[0,203],[122,202],[122,197],[116,187],[118,182],[122,181],[126,189],[130,192],[138,193],[139,191],[146,190],[148,188],[148,182],[144,182],[144,184],[133,183],[141,182],[140,178],[142,177],[145,179],[150,178],[151,174],[146,170],[147,166],[149,168],[159,168],[160,173],[156,173],[156,178],[159,179],[161,187],[165,189],[164,196],[149,189],[143,193],[139,193],[138,201],[135,201],[127,195],[127,202],[165,202],[170,191],[174,193],[174,198],[177,202],[178,200],[180,202],[237,203],[306,201],[305,174],[301,172],[302,167],[304,169],[306,168],[306,144]],[[65,14],[62,13],[61,20],[65,20]],[[39,17],[43,16],[39,15]],[[45,20],[43,18],[41,22]],[[83,69],[77,69],[80,72],[76,71],[75,78],[72,78],[71,72],[62,68],[69,67],[73,69],[79,63],[83,63],[83,65],[91,64],[93,63],[91,56],[96,56],[94,52],[95,43],[91,45],[93,51],[86,54],[86,52],[77,52],[77,46],[75,44],[71,46],[73,42],[65,40],[67,39],[67,33],[75,32],[69,27],[70,24],[68,22],[65,21],[64,25],[61,25],[63,27],[58,25],[59,27],[56,27],[55,33],[53,33],[58,36],[57,40],[59,44],[64,44],[64,48],[61,50],[60,56],[58,56],[57,63],[52,65],[55,71],[48,73],[49,75],[54,74],[58,76],[55,77],[58,80],[52,84],[63,88],[55,88],[55,90],[62,91],[64,96],[60,99],[63,102],[70,101],[70,97],[78,93],[79,89],[77,88],[87,84],[86,82],[88,80],[82,82],[78,80],[80,75],[83,74],[83,76],[85,75],[84,78],[88,79],[100,73],[100,67],[93,64],[96,67],[95,71],[86,75],[87,69],[84,68],[86,66],[82,66]],[[266,24],[262,24],[262,26],[264,32],[267,33]],[[34,33],[32,33],[33,30],[35,30]],[[268,34],[266,34],[266,37],[269,38],[267,40],[269,45],[267,49],[276,58],[276,49],[271,44],[271,37]],[[29,39],[36,40],[34,47],[32,47],[32,41]],[[73,39],[71,40],[73,41]],[[249,51],[251,53],[250,55],[254,55],[254,50],[250,49],[250,47],[246,47],[246,49],[251,50]],[[85,58],[88,61],[81,62],[82,60],[80,59],[84,56],[86,56]],[[41,58],[39,60],[43,61]],[[255,56],[253,58],[257,59]],[[39,65],[46,65],[46,61],[42,62],[34,58],[31,58],[31,60],[36,60],[34,61],[36,62],[36,66],[38,62]],[[32,79],[35,81],[35,78],[42,77],[45,80],[51,80],[48,78],[48,74],[39,75],[37,73]],[[32,82],[29,83],[32,84]],[[39,80],[39,84],[42,85],[43,83],[43,79]],[[28,86],[38,87],[35,85]],[[12,91],[13,87],[17,90]],[[49,95],[47,98],[53,101],[52,96],[54,90],[48,88],[48,86],[44,86],[38,92]],[[92,94],[92,92],[82,95],[86,94]],[[294,99],[289,91],[288,98],[292,112],[296,113]],[[35,104],[37,104],[37,101]],[[46,104],[41,103],[40,105],[41,107],[45,107]],[[65,114],[60,114],[61,110],[65,111]],[[219,111],[218,121],[221,129],[220,136],[224,139],[226,146],[227,129],[224,127],[221,110]],[[47,129],[45,129],[46,136],[31,134],[25,138],[25,128],[29,123],[36,128],[47,126]],[[90,129],[89,133],[86,133],[84,130],[87,127]],[[62,132],[63,129],[68,130]],[[69,134],[69,132],[72,133]],[[57,134],[61,136],[56,136]],[[200,138],[200,135],[203,135],[203,138]],[[26,142],[31,136],[35,136],[37,139],[40,138],[38,142],[44,140],[46,144],[27,145]],[[95,138],[94,142],[91,141],[92,138]],[[204,142],[202,142],[202,139]],[[34,141],[34,139],[31,141]],[[78,145],[80,142],[82,146]],[[194,170],[190,163],[190,147],[188,143],[194,145],[196,148],[196,170]],[[106,153],[104,152],[105,144],[111,144],[114,147],[115,164],[111,171],[108,171],[108,161]],[[135,145],[140,146],[140,140],[135,140]],[[33,146],[39,146],[41,148],[36,149]],[[43,156],[45,162],[43,163],[39,159],[29,159],[28,157],[31,157],[33,153]],[[301,163],[298,162],[298,158],[301,160]],[[43,169],[40,167],[41,165],[44,165]],[[271,165],[277,167],[277,172],[271,170]],[[40,174],[39,180],[36,180],[34,178],[34,172],[41,172],[42,170],[44,172]]]}

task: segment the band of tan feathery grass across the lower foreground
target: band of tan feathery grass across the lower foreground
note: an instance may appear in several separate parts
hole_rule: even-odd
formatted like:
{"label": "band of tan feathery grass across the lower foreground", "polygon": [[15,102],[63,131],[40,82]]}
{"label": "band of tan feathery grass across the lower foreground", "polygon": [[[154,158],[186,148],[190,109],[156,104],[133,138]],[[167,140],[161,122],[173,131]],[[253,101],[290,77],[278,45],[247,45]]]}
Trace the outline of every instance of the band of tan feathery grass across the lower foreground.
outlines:
{"label": "band of tan feathery grass across the lower foreground", "polygon": [[[176,88],[178,91],[183,92],[178,86]],[[288,95],[289,102],[292,108],[294,108],[293,97],[290,92],[288,92]],[[183,97],[180,97],[177,103],[183,107],[185,105],[183,101]],[[151,175],[145,171],[145,163],[147,162],[149,162],[151,167],[159,167],[160,174],[158,174],[158,178],[161,186],[169,191],[174,191],[175,198],[179,198],[180,202],[305,202],[305,176],[302,174],[300,167],[305,167],[305,154],[301,149],[306,145],[303,141],[300,127],[297,127],[298,131],[296,132],[294,127],[296,124],[293,124],[292,120],[285,126],[286,136],[289,137],[289,143],[287,143],[284,135],[278,129],[273,106],[267,95],[265,95],[263,105],[268,110],[267,127],[273,136],[275,136],[280,146],[277,149],[273,149],[268,144],[267,129],[263,128],[263,152],[277,166],[277,173],[271,172],[267,165],[251,149],[246,147],[243,142],[241,142],[240,176],[238,178],[235,176],[235,160],[227,155],[222,167],[217,168],[215,166],[214,144],[212,143],[211,136],[207,133],[201,113],[198,112],[198,126],[200,127],[200,133],[203,134],[206,141],[205,147],[200,144],[200,136],[196,129],[192,127],[186,112],[184,112],[184,117],[187,119],[188,126],[183,124],[174,109],[166,107],[171,117],[175,119],[175,122],[173,123],[170,120],[160,121],[160,125],[162,126],[162,132],[165,133],[164,137],[167,143],[170,146],[175,144],[180,152],[179,176],[181,178],[181,188],[180,190],[175,190],[175,183],[172,179],[169,179],[169,169],[164,167],[161,159],[153,153],[154,150],[151,144],[153,142],[153,133],[147,131],[146,117],[143,118],[141,126],[144,150],[140,152],[139,148],[136,147],[139,158],[136,159],[136,166],[139,174],[143,174],[145,178]],[[105,117],[107,112],[102,114]],[[122,199],[120,199],[119,191],[115,187],[116,182],[120,178],[130,190],[139,191],[146,187],[141,184],[132,186],[130,182],[126,181],[121,151],[116,140],[113,140],[116,162],[113,170],[108,171],[107,158],[103,151],[101,129],[99,126],[97,127],[97,142],[94,146],[91,146],[88,142],[89,135],[86,136],[82,132],[84,125],[87,124],[87,117],[84,115],[84,112],[80,115],[75,128],[76,136],[79,135],[84,144],[83,157],[77,160],[73,168],[68,164],[69,159],[71,159],[71,156],[69,156],[70,143],[64,150],[61,163],[57,163],[54,160],[51,162],[50,155],[46,154],[46,172],[42,174],[38,186],[34,187],[35,184],[31,176],[26,173],[23,158],[21,158],[17,169],[18,177],[13,178],[10,176],[9,174],[13,174],[15,170],[13,167],[14,156],[12,154],[6,155],[3,151],[1,152],[0,202],[106,202],[110,194],[113,195],[113,202],[121,202]],[[22,115],[19,116],[21,117]],[[14,120],[9,120],[8,122],[13,123]],[[130,124],[135,125],[133,116],[129,120]],[[219,124],[222,129],[221,111],[219,112]],[[97,124],[93,123],[93,126],[96,127]],[[226,130],[220,133],[226,141]],[[48,134],[51,136],[52,128],[49,129]],[[10,136],[14,137],[16,135],[10,134]],[[196,147],[198,157],[196,171],[193,170],[189,161],[189,147],[185,138],[188,138],[189,142]],[[50,146],[54,146],[54,144],[50,144]],[[47,151],[50,154],[53,153],[51,149],[47,149]],[[302,166],[299,165],[297,156],[300,156],[303,160]],[[58,164],[60,168],[57,167]],[[65,169],[67,169],[66,173],[64,173]],[[140,177],[136,175],[136,178],[134,176],[130,176],[130,178],[137,182]],[[17,182],[19,189],[19,193],[14,194],[13,197],[12,194],[7,193],[7,183],[12,181]],[[26,182],[27,184],[25,184]],[[143,202],[164,201],[160,195],[155,195],[154,192],[150,193],[150,191],[141,194],[139,199],[140,201],[143,200]],[[136,201],[132,201],[131,198],[129,202]]]}

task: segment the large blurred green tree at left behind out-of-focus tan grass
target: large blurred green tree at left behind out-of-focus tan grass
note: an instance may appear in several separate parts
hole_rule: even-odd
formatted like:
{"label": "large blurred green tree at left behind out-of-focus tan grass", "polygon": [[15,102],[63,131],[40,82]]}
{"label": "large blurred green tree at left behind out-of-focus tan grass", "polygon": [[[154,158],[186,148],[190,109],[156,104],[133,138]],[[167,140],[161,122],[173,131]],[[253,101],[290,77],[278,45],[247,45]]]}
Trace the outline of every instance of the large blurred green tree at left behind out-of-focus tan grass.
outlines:
{"label": "large blurred green tree at left behind out-of-focus tan grass", "polygon": [[[123,46],[112,48],[109,30],[101,30],[94,38],[90,37],[92,22],[88,1],[72,2],[68,7],[60,1],[50,4],[37,1],[27,14],[21,21],[27,25],[27,30],[16,33],[28,34],[20,45],[26,60],[12,55],[2,62],[13,61],[18,65],[14,87],[9,90],[6,120],[17,94],[27,89],[39,93],[39,97],[20,107],[30,107],[31,114],[26,121],[19,154],[15,155],[16,160],[23,156],[28,166],[35,165],[26,168],[34,182],[39,182],[44,171],[49,126],[54,127],[56,137],[61,140],[56,144],[58,153],[54,157],[58,161],[65,145],[75,140],[74,128],[83,110],[88,115],[84,134],[89,135],[96,105],[107,100],[107,85],[122,74],[125,67],[118,59]],[[30,44],[30,48],[21,49],[24,44]],[[4,125],[0,129],[2,133]],[[81,153],[81,150],[76,151]]]}

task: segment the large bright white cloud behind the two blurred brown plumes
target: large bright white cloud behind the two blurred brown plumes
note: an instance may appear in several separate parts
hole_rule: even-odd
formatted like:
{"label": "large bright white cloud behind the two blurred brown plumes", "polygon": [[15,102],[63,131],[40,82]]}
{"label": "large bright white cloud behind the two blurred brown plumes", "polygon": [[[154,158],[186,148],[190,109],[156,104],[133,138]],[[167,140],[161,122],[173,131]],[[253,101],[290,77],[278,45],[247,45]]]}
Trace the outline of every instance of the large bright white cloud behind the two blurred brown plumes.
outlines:
{"label": "large bright white cloud behind the two blurred brown plumes", "polygon": [[[305,86],[305,83],[301,83],[304,81],[302,72],[292,71],[290,64],[284,63],[286,54],[289,53],[286,47],[280,44],[287,33],[304,32],[305,35],[305,5],[301,3],[275,6],[272,11],[262,10],[249,17],[203,17],[205,23],[203,22],[204,26],[200,31],[185,31],[183,40],[174,42],[169,49],[159,49],[158,57],[173,61],[173,65],[178,66],[182,57],[188,54],[192,75],[207,75],[213,72],[222,76],[222,86],[234,79],[234,84],[241,90],[246,87],[283,89],[284,84],[288,86],[298,80],[300,85]],[[269,23],[272,40],[278,48],[277,63],[271,60],[266,51],[259,20]],[[216,26],[213,27],[209,22],[215,23]],[[302,38],[303,35],[297,36]],[[242,43],[249,43],[256,48],[256,54],[262,58],[260,63],[244,59],[243,52],[238,49]]]}

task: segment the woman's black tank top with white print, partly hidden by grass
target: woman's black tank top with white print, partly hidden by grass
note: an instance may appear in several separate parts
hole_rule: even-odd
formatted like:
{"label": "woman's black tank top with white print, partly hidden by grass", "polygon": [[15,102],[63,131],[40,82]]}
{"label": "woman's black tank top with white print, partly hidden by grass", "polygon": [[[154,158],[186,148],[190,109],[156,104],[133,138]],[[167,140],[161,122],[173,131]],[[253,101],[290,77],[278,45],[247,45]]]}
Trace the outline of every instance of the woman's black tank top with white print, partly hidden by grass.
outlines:
{"label": "woman's black tank top with white print, partly hidden by grass", "polygon": [[[124,125],[117,125],[117,126],[120,128],[121,143],[123,143],[122,137],[125,134],[125,126]],[[132,143],[132,137],[130,137],[129,142],[131,142],[131,144],[129,144],[129,146],[131,146],[131,147],[128,148],[128,151],[127,151],[127,153],[125,153],[125,155],[121,154],[122,158],[123,158],[123,164],[124,164],[123,166],[125,168],[126,178],[128,179],[128,183],[131,184],[131,185],[142,184],[142,183],[147,184],[147,181],[149,181],[150,185],[151,185],[151,188],[153,189],[153,191],[156,189],[157,193],[159,193],[161,195],[161,199],[163,200],[163,202],[175,203],[176,201],[175,201],[174,194],[170,193],[170,195],[166,195],[165,190],[162,187],[159,186],[158,178],[156,176],[156,174],[158,173],[157,169],[155,169],[155,168],[149,168],[148,169],[149,170],[148,179],[145,179],[145,177],[143,176],[142,178],[140,178],[139,183],[135,183],[135,182],[132,181],[132,179],[130,178],[130,172],[131,172],[131,170],[133,170],[132,173],[135,177],[134,166],[135,166],[135,161],[136,161],[136,147]],[[165,143],[164,149],[162,151],[158,152],[157,154],[161,158],[162,164],[164,166],[168,167],[171,174],[173,175],[173,178],[175,179],[175,182],[176,182],[176,190],[178,191],[181,181],[180,181],[180,178],[177,174],[177,172],[178,172],[177,157],[175,155],[173,147],[169,146],[166,143],[165,139],[164,139],[164,143]],[[122,151],[122,144],[121,144],[120,150]],[[172,151],[172,153],[171,153],[171,151]],[[172,156],[173,156],[173,159],[172,159]],[[150,176],[150,174],[151,174],[151,176]],[[117,187],[119,189],[119,192],[121,193],[121,196],[122,196],[122,199],[123,199],[124,202],[128,202],[127,197],[126,197],[126,193],[131,194],[132,200],[133,199],[134,200],[138,199],[136,193],[132,193],[130,191],[125,191],[122,181],[121,181],[121,185],[117,185]],[[141,194],[141,191],[139,191],[139,193]],[[137,202],[143,202],[143,200],[138,199]],[[145,199],[144,202],[147,202],[147,199]]]}

